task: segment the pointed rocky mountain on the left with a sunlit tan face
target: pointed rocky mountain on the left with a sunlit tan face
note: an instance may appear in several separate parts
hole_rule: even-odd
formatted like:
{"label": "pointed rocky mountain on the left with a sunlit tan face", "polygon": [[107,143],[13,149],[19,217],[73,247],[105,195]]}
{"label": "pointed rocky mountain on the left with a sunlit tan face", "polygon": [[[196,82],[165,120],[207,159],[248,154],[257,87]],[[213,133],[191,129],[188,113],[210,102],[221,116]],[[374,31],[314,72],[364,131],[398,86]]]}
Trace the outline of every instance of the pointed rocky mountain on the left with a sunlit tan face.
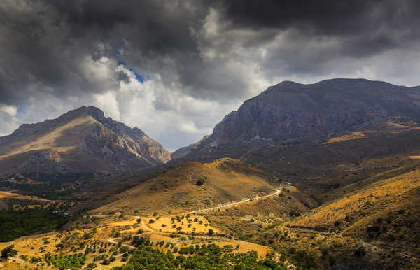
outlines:
{"label": "pointed rocky mountain on the left with a sunlit tan face", "polygon": [[24,124],[0,137],[1,175],[127,171],[170,159],[169,152],[140,129],[106,118],[95,107]]}

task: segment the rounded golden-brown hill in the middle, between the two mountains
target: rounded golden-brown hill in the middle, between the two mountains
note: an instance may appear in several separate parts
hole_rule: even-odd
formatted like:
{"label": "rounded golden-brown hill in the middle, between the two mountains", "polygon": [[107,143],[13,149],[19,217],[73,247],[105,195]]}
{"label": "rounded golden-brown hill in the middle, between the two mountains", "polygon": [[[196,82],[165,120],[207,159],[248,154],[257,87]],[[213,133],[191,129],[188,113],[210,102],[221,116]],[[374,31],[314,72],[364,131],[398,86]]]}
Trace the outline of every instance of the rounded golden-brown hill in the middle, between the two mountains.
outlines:
{"label": "rounded golden-brown hill in the middle, between the two mountains", "polygon": [[136,209],[140,213],[167,213],[210,208],[275,191],[276,178],[235,159],[208,164],[187,162],[111,198],[97,211]]}

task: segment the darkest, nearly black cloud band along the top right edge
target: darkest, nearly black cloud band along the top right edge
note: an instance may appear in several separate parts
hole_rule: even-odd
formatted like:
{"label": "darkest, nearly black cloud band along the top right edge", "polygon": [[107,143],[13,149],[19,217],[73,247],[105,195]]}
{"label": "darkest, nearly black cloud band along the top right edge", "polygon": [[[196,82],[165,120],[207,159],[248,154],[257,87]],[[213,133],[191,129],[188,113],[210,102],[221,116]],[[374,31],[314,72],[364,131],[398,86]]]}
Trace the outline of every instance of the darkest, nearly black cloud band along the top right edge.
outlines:
{"label": "darkest, nearly black cloud band along the top right edge", "polygon": [[385,27],[419,34],[420,2],[354,1],[221,1],[217,4],[235,27],[301,29],[308,34],[348,36]]}

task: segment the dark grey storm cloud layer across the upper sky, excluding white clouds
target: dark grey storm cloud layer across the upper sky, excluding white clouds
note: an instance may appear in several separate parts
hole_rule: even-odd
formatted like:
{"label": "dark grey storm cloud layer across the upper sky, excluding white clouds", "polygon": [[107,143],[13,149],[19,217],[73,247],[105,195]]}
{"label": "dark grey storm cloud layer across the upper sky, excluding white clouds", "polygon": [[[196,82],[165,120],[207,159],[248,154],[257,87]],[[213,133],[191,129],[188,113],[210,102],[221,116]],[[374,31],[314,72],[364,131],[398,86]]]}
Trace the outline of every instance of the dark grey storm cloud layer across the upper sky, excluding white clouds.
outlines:
{"label": "dark grey storm cloud layer across the upper sky, excluding white clouds", "polygon": [[[95,0],[25,4],[27,9],[6,1],[0,9],[5,35],[0,48],[0,91],[3,102],[8,103],[46,88],[58,96],[100,92],[104,85],[86,78],[79,64],[83,57],[97,60],[104,56],[125,61],[139,72],[160,72],[167,85],[178,79],[185,91],[196,97],[240,96],[245,91],[243,78],[218,62],[204,62],[197,41],[201,36],[192,34],[202,27],[209,8],[230,22],[221,31],[259,33],[258,39],[242,40],[245,47],[256,48],[289,29],[293,30],[288,36],[290,47],[321,37],[337,38],[337,47],[325,48],[330,53],[314,50],[314,55],[304,55],[306,61],[300,57],[293,60],[293,50],[279,45],[269,52],[271,61],[262,63],[274,73],[279,63],[282,72],[310,73],[312,64],[318,66],[337,55],[374,55],[416,40],[420,31],[419,1]],[[104,45],[101,50],[98,43]],[[125,53],[118,56],[118,50]],[[114,79],[118,82],[121,74]],[[116,87],[115,82],[109,82],[108,87]]]}

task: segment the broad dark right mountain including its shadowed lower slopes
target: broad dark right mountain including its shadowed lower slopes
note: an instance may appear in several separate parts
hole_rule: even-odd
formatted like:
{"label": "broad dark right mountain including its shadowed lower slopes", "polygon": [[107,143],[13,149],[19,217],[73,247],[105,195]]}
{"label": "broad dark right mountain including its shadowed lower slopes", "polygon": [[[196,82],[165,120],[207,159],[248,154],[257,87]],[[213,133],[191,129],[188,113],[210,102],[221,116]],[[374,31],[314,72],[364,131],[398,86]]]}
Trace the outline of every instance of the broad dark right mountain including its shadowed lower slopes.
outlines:
{"label": "broad dark right mountain including its shadowed lower slopes", "polygon": [[[245,101],[213,134],[175,151],[169,164],[232,157],[322,197],[401,166],[405,161],[398,156],[417,155],[419,98],[415,87],[363,79],[279,83]],[[349,173],[367,159],[381,165]]]}

